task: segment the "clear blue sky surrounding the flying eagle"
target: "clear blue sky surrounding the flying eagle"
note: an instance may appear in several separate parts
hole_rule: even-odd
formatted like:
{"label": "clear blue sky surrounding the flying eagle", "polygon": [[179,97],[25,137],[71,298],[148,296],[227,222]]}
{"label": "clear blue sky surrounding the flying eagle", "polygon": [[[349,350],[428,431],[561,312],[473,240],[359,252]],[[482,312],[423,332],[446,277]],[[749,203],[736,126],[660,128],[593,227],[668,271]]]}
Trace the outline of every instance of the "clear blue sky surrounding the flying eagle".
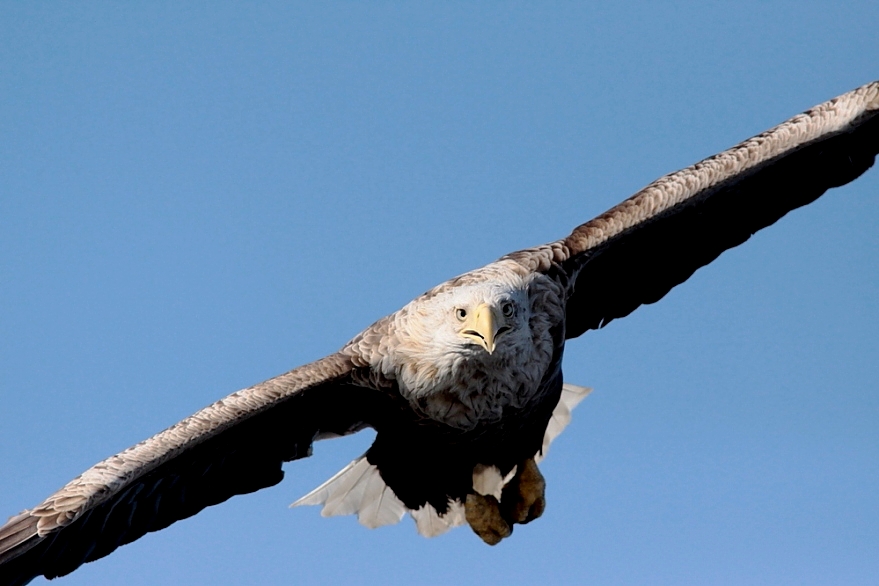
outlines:
{"label": "clear blue sky surrounding the flying eagle", "polygon": [[[710,4],[710,5],[709,5]],[[0,4],[0,516],[458,273],[879,78],[879,3]],[[61,584],[875,584],[879,170],[569,344],[495,548],[287,505]]]}

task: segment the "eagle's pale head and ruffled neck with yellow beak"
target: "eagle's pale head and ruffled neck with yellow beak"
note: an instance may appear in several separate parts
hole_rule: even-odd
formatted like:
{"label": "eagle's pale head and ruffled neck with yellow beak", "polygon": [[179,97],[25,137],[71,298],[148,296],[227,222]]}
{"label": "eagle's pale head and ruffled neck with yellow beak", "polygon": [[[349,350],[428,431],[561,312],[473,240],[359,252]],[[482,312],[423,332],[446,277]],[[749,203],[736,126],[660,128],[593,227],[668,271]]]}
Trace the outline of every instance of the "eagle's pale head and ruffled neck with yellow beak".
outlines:
{"label": "eagle's pale head and ruffled neck with yellow beak", "polygon": [[527,404],[558,349],[541,275],[495,263],[416,298],[386,324],[378,366],[429,417],[472,427]]}

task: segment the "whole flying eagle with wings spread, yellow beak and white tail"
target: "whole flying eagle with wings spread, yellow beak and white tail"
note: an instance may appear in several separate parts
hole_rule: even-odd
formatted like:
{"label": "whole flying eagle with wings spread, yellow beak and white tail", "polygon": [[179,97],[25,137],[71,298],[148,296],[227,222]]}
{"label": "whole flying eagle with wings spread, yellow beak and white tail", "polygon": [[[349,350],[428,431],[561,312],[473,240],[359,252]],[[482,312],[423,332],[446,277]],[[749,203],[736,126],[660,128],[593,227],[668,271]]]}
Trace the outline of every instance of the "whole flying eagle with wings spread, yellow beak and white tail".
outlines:
{"label": "whole flying eagle with wings spread, yellow beak and white tail", "polygon": [[654,181],[561,240],[447,281],[341,350],[233,393],[100,462],[0,527],[0,584],[65,575],[203,508],[277,484],[316,440],[376,430],[294,504],[489,544],[545,506],[537,468],[588,392],[565,340],[854,180],[879,152],[879,81]]}

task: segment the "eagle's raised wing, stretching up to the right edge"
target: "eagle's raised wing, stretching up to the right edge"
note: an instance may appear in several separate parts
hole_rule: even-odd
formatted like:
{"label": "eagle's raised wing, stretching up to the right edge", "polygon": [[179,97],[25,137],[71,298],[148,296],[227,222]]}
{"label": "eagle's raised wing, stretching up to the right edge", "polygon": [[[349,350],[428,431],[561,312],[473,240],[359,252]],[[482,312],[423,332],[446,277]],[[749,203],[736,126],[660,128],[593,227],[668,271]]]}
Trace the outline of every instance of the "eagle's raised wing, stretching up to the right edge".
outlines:
{"label": "eagle's raised wing, stretching up to the right edge", "polygon": [[661,177],[550,244],[508,255],[570,279],[568,338],[654,303],[724,250],[873,165],[879,81]]}

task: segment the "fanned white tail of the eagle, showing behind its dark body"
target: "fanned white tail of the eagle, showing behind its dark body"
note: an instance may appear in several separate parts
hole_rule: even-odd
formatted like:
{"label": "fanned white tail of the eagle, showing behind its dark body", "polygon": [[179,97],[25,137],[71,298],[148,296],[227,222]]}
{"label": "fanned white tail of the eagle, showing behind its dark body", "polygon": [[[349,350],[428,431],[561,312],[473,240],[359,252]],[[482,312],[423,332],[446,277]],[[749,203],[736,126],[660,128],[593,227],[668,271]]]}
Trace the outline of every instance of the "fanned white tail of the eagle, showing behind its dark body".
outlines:
{"label": "fanned white tail of the eagle, showing behind its dark body", "polygon": [[[571,410],[588,395],[592,389],[562,385],[559,404],[552,412],[546,433],[543,436],[543,447],[536,454],[536,461],[546,456],[549,444],[558,437],[562,430],[571,422]],[[501,477],[500,470],[495,466],[477,465],[473,469],[473,490],[482,495],[494,495],[500,498],[504,486],[513,479],[516,469],[513,468],[506,477]],[[378,468],[361,456],[342,468],[332,478],[303,496],[291,507],[301,505],[323,505],[321,515],[357,515],[357,520],[370,529],[399,523],[408,510],[394,491],[385,484]],[[466,522],[464,505],[458,501],[449,503],[449,510],[440,516],[436,509],[425,504],[418,510],[409,510],[418,533],[425,537],[442,535],[452,527]]]}

